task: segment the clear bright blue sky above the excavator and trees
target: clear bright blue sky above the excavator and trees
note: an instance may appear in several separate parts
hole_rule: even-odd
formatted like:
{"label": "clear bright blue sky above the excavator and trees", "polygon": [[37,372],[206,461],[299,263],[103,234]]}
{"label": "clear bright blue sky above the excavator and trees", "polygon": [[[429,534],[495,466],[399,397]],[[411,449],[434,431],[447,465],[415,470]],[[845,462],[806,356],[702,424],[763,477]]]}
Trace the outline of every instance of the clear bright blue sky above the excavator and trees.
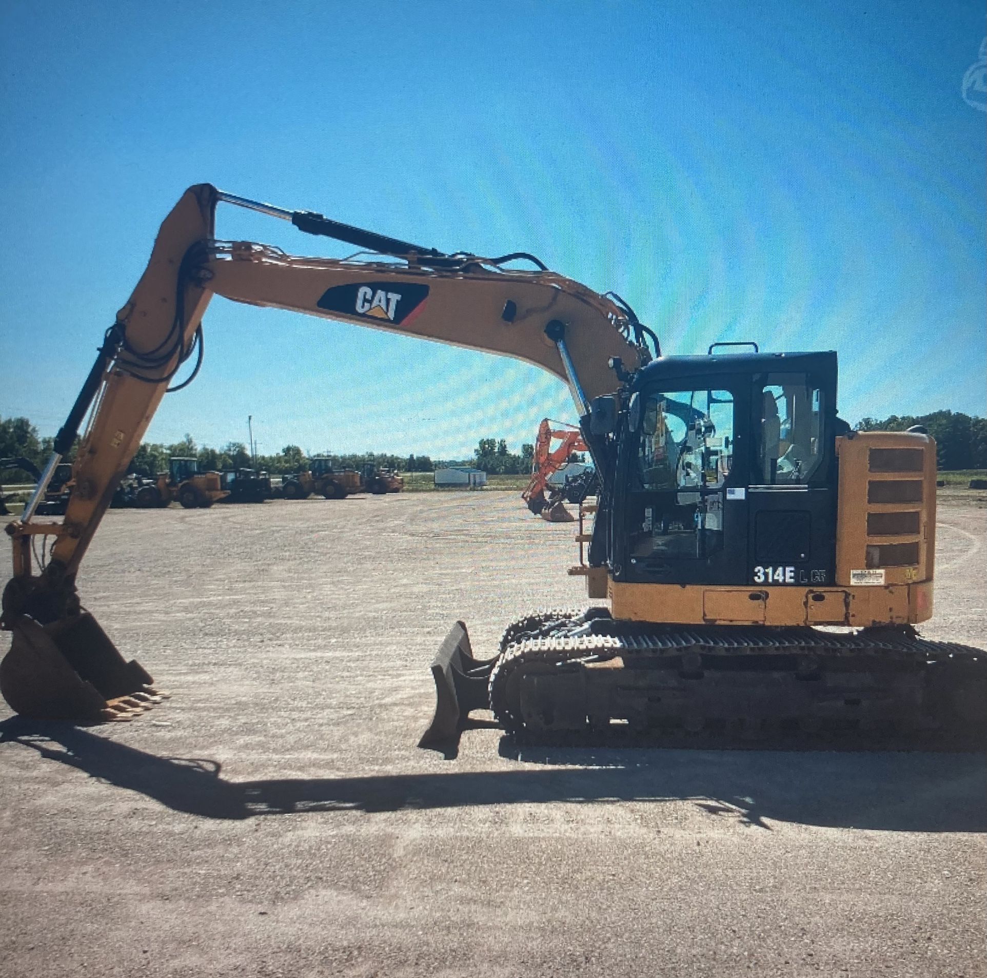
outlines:
{"label": "clear bright blue sky above the excavator and trees", "polygon": [[[210,182],[616,289],[666,352],[835,348],[841,414],[987,409],[983,5],[0,8],[0,415],[58,427]],[[217,234],[342,255],[221,208]],[[468,454],[572,419],[481,353],[215,299],[148,437]]]}

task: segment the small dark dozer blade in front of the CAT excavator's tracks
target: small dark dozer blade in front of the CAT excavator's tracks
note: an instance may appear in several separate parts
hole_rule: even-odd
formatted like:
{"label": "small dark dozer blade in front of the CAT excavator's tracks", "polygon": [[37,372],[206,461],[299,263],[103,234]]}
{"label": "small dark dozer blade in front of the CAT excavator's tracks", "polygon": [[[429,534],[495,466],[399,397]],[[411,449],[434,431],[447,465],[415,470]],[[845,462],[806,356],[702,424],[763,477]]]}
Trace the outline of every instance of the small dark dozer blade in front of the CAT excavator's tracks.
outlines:
{"label": "small dark dozer blade in front of the CAT excavator's tracks", "polygon": [[497,656],[475,659],[470,636],[456,622],[439,645],[432,662],[435,680],[435,716],[418,741],[419,747],[440,749],[458,737],[471,710],[490,707],[488,684]]}

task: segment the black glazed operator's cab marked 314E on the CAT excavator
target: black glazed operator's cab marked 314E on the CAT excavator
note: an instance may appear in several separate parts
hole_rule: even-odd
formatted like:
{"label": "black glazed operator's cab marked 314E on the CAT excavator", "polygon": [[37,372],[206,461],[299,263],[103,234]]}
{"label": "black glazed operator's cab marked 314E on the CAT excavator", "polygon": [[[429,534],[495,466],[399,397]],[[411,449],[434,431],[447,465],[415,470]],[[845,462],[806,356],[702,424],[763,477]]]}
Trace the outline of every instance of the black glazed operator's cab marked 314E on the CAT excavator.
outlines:
{"label": "black glazed operator's cab marked 314E on the CAT excavator", "polygon": [[617,582],[828,585],[836,354],[665,357],[619,432]]}

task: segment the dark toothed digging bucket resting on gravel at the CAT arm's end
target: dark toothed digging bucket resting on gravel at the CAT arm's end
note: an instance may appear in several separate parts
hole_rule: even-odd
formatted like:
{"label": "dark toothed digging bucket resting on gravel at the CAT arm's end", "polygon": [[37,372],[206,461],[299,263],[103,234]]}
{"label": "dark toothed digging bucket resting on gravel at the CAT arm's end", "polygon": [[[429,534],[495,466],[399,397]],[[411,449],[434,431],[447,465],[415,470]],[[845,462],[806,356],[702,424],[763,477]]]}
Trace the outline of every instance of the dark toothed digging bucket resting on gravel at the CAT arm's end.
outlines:
{"label": "dark toothed digging bucket resting on gravel at the CAT arm's end", "polygon": [[160,702],[151,677],[127,662],[89,612],[39,625],[21,616],[0,662],[0,693],[33,719],[98,723],[130,719]]}

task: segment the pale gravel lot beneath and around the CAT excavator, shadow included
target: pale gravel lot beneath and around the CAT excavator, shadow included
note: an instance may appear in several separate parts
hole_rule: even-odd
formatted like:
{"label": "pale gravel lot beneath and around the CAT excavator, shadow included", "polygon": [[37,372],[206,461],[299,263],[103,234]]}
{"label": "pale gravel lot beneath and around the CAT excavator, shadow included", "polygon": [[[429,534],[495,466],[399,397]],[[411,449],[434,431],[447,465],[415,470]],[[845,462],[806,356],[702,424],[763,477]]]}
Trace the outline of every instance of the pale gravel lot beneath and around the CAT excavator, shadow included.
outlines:
{"label": "pale gravel lot beneath and around the CAT excavator, shadow included", "polygon": [[[984,643],[987,509],[940,517],[923,632]],[[0,714],[0,974],[987,974],[981,756],[418,750],[452,621],[485,654],[583,603],[572,532],[510,493],[111,511],[84,602],[173,699]]]}

